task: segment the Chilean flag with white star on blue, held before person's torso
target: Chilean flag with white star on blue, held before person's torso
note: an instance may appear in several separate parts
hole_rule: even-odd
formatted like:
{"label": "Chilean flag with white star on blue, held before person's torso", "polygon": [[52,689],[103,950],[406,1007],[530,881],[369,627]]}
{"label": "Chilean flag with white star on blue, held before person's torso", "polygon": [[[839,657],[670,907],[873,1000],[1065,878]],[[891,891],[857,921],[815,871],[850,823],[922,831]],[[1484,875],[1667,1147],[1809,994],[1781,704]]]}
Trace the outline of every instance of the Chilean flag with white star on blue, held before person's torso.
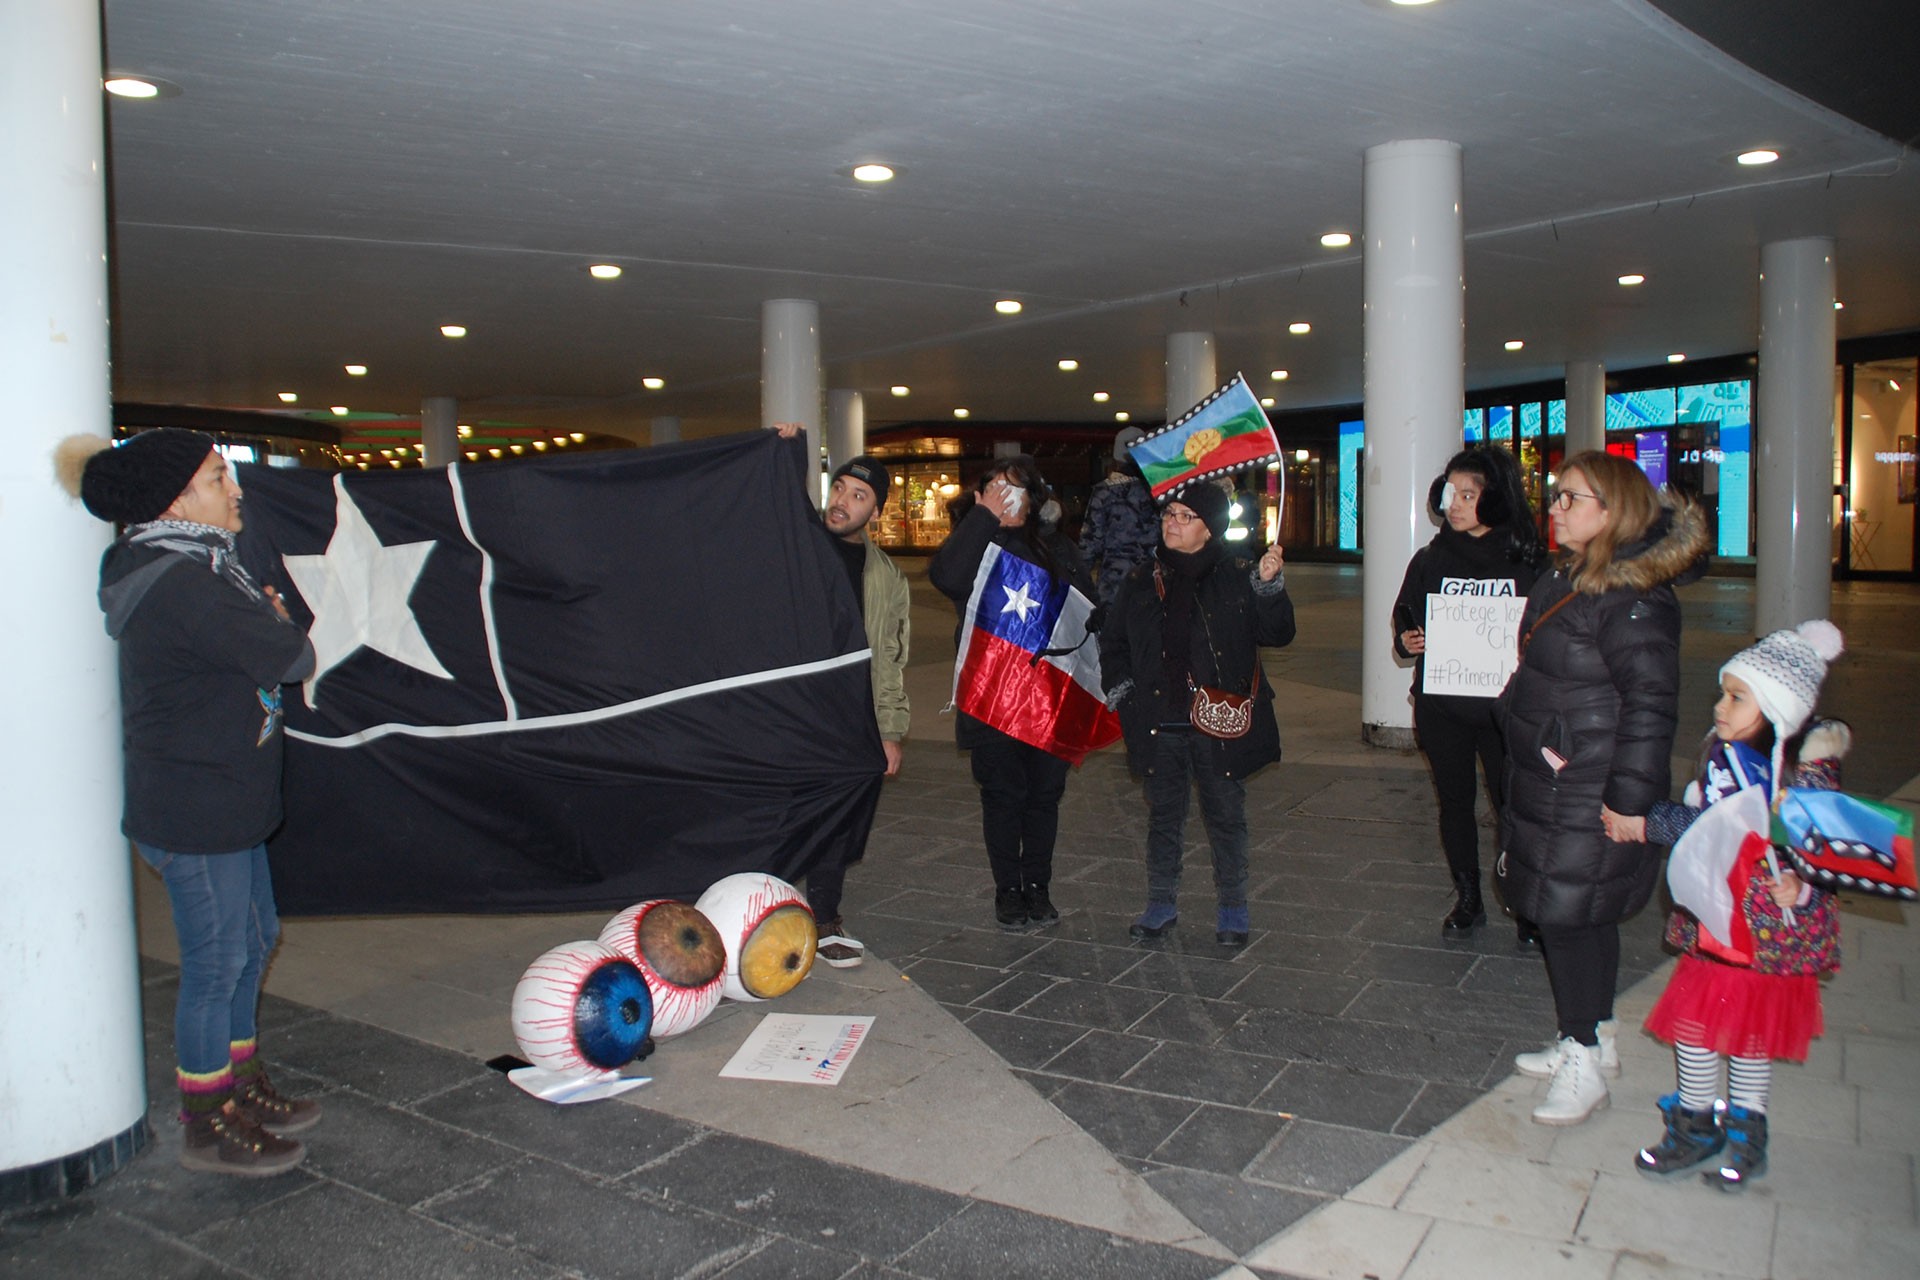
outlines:
{"label": "Chilean flag with white star on blue, held before person's torso", "polygon": [[954,706],[1071,764],[1117,743],[1119,718],[1100,697],[1100,647],[1087,635],[1091,612],[1071,585],[989,545],[966,603],[972,626],[960,629]]}

